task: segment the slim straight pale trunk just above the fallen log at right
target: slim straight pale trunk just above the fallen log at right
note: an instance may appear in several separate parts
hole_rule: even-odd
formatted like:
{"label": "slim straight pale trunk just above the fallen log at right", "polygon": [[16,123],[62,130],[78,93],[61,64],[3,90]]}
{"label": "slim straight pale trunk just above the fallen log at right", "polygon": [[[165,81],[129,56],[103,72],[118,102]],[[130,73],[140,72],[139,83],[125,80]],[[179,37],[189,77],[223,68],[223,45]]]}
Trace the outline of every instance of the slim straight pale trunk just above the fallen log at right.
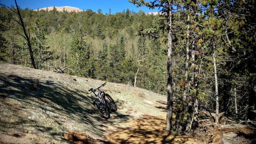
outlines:
{"label": "slim straight pale trunk just above the fallen log at right", "polygon": [[217,68],[216,68],[216,61],[215,61],[215,44],[213,43],[213,67],[214,67],[214,80],[215,80],[215,97],[216,97],[216,118],[215,124],[219,122],[219,92],[218,92],[218,79],[217,79]]}

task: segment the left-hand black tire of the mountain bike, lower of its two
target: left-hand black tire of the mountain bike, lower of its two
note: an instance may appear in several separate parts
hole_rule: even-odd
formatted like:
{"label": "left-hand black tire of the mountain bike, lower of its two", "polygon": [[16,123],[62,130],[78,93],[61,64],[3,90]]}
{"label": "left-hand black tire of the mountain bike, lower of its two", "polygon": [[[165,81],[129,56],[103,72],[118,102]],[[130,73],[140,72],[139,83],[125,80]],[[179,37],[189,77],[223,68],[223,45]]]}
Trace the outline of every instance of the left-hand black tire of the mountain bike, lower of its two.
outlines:
{"label": "left-hand black tire of the mountain bike, lower of its two", "polygon": [[94,108],[99,113],[100,117],[105,118],[105,119],[109,119],[110,118],[109,108],[106,107],[106,106],[101,106],[101,102],[100,102],[99,99],[95,98],[93,100],[93,105],[94,105]]}

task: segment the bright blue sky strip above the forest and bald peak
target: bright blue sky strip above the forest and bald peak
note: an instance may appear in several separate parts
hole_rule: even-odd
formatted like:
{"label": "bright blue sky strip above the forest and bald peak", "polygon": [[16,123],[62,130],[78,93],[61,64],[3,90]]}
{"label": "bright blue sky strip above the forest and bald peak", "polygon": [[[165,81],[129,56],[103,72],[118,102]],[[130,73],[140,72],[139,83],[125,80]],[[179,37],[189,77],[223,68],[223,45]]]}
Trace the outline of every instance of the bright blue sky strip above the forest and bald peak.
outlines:
{"label": "bright blue sky strip above the forest and bald peak", "polygon": [[[14,0],[0,0],[2,4],[6,6],[15,5]],[[16,0],[17,4],[22,8],[29,8],[36,10],[37,8],[44,8],[50,6],[72,6],[77,7],[81,10],[91,9],[97,12],[98,9],[102,10],[102,13],[108,13],[109,8],[111,8],[111,13],[123,12],[128,8],[134,12],[139,12],[142,10],[144,12],[157,12],[158,9],[149,10],[147,7],[136,7],[135,5],[129,3],[128,0]]]}

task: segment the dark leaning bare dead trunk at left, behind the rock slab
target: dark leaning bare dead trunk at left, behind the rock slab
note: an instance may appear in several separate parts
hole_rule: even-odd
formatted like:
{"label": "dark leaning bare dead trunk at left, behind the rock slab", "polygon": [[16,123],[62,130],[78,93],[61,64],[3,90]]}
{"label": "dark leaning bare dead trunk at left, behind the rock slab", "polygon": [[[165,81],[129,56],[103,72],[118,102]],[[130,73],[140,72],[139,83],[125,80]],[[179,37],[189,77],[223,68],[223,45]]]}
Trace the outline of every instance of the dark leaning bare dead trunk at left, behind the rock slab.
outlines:
{"label": "dark leaning bare dead trunk at left, behind the rock slab", "polygon": [[32,47],[31,47],[31,44],[30,44],[29,30],[26,31],[26,28],[25,28],[24,22],[22,20],[22,17],[20,15],[20,10],[19,10],[19,7],[18,7],[18,4],[17,4],[16,0],[15,0],[15,4],[16,4],[16,8],[17,8],[17,12],[15,12],[15,13],[17,13],[19,15],[19,17],[20,17],[20,22],[19,21],[17,21],[17,22],[22,26],[22,30],[23,30],[23,32],[25,34],[25,36],[23,36],[23,37],[27,40],[27,44],[28,44],[28,49],[29,49],[32,65],[33,65],[33,68],[36,68],[36,64],[35,64],[35,60],[34,60],[34,56],[33,56],[33,51],[32,51]]}

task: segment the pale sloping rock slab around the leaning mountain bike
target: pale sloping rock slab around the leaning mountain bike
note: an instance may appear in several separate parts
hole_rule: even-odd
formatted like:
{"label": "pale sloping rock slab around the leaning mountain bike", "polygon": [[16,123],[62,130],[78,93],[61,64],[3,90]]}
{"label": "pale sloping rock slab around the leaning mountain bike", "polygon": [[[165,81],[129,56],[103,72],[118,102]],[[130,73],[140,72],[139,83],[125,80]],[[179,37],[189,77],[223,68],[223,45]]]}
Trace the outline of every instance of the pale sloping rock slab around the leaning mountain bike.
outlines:
{"label": "pale sloping rock slab around the leaning mountain bike", "polygon": [[[116,101],[118,110],[111,114],[110,119],[102,119],[93,108],[93,96],[88,93],[89,88],[96,88],[102,83],[89,78],[1,64],[0,142],[69,143],[67,134],[73,133],[72,137],[80,134],[82,141],[105,143],[109,141],[106,137],[109,133],[115,134],[116,130],[125,133],[132,128],[131,124],[146,129],[149,121],[151,128],[163,130],[166,97],[124,84],[107,83],[103,87]],[[157,124],[152,123],[156,120],[159,120]],[[152,127],[152,124],[156,125]],[[128,135],[124,137],[128,138]]]}

